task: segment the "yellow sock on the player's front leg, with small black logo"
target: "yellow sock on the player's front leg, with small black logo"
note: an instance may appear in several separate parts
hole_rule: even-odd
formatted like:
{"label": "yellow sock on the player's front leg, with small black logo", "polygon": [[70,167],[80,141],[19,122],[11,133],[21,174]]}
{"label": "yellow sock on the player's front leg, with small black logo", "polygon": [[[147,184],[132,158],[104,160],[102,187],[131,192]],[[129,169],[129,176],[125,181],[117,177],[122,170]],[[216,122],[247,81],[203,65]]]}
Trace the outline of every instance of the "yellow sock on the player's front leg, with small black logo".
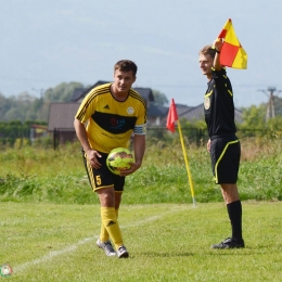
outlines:
{"label": "yellow sock on the player's front leg, with small black logo", "polygon": [[[106,229],[116,248],[123,245],[121,232],[117,222],[116,211],[114,207],[101,207],[102,225]],[[102,239],[101,239],[102,241]]]}

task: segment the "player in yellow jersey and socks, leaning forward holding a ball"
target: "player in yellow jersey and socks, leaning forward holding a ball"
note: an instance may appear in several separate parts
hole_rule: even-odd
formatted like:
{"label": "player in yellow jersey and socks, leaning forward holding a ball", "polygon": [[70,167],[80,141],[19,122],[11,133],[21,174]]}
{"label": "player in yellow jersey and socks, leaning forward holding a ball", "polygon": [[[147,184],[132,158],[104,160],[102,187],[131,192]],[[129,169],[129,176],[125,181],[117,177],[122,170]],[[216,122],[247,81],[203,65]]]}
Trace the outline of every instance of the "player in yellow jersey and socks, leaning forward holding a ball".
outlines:
{"label": "player in yellow jersey and socks, leaning forward holding a ball", "polygon": [[[97,245],[118,258],[129,256],[117,221],[125,177],[140,168],[145,151],[146,106],[131,88],[136,74],[133,62],[117,62],[114,81],[90,90],[74,121],[90,184],[100,198],[102,226]],[[116,176],[106,166],[107,154],[115,148],[128,148],[132,134],[134,163]]]}

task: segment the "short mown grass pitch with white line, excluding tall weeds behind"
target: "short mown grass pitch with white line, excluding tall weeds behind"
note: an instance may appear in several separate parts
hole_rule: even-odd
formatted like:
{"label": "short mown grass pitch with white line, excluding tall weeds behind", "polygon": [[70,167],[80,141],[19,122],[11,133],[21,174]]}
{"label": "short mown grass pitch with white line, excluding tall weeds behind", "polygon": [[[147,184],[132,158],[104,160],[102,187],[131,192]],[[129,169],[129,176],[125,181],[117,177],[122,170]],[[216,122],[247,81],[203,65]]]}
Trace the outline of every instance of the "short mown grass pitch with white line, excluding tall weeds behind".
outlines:
{"label": "short mown grass pitch with white line, excluding tall weeds behind", "polygon": [[227,251],[210,248],[229,235],[222,203],[124,205],[128,259],[95,247],[98,205],[2,203],[0,210],[9,281],[282,281],[280,202],[243,202],[246,247]]}

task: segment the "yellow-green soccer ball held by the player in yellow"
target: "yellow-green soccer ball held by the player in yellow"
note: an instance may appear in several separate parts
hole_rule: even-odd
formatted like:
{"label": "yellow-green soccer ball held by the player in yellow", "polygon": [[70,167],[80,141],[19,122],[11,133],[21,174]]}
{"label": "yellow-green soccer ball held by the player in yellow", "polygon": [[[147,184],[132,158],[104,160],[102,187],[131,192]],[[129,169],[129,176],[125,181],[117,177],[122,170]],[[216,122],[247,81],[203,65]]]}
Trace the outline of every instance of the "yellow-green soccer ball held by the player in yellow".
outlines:
{"label": "yellow-green soccer ball held by the player in yellow", "polygon": [[129,163],[133,163],[133,156],[126,148],[113,149],[106,158],[106,165],[111,172],[119,176],[120,171],[129,169]]}

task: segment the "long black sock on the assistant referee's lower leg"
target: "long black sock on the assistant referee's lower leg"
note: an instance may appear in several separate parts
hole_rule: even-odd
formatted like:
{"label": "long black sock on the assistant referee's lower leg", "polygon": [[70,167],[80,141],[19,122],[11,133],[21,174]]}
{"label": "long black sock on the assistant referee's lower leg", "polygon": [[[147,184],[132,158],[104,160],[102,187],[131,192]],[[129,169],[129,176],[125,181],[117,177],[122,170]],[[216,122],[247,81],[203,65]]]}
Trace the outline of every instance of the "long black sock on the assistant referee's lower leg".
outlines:
{"label": "long black sock on the assistant referee's lower leg", "polygon": [[232,239],[241,242],[242,238],[242,205],[241,201],[235,201],[227,205],[228,215],[232,227]]}

